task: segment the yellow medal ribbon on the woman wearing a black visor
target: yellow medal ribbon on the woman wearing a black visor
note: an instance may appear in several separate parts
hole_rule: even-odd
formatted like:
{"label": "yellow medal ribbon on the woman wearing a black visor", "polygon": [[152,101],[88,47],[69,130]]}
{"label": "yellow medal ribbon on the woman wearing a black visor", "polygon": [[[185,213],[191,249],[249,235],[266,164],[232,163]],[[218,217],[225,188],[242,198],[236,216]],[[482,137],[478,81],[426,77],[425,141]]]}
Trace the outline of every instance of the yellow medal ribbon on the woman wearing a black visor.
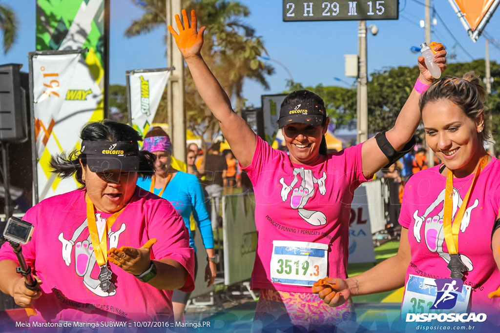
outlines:
{"label": "yellow medal ribbon on the woman wearing a black visor", "polygon": [[125,209],[126,206],[106,219],[106,226],[104,228],[104,231],[102,232],[101,239],[99,240],[99,234],[97,232],[97,222],[95,221],[94,205],[88,195],[85,195],[85,202],[87,203],[88,233],[90,234],[90,239],[92,240],[95,260],[97,261],[97,265],[101,267],[107,263],[107,232],[111,229],[114,221],[116,221],[116,219],[121,214],[121,212],[123,212],[123,209]]}

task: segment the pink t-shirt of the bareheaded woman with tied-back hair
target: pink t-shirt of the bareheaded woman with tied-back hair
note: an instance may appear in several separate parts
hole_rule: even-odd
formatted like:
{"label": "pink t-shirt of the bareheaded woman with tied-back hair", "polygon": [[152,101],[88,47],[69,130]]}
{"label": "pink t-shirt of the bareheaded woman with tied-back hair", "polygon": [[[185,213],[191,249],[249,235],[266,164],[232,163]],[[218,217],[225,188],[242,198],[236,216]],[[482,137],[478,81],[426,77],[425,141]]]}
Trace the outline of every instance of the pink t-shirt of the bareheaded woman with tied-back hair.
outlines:
{"label": "pink t-shirt of the bareheaded woman with tied-back hair", "polygon": [[[441,164],[442,165],[442,164]],[[449,278],[449,254],[442,216],[446,177],[439,167],[419,171],[405,185],[399,223],[408,228],[411,262],[408,275]],[[500,206],[500,161],[493,158],[479,174],[458,232],[458,253],[467,267],[464,285],[471,286],[471,312],[498,313],[499,299],[488,293],[500,286],[500,271],[491,251],[491,231]],[[458,211],[474,175],[453,179],[453,214]],[[496,250],[497,251],[497,250]]]}

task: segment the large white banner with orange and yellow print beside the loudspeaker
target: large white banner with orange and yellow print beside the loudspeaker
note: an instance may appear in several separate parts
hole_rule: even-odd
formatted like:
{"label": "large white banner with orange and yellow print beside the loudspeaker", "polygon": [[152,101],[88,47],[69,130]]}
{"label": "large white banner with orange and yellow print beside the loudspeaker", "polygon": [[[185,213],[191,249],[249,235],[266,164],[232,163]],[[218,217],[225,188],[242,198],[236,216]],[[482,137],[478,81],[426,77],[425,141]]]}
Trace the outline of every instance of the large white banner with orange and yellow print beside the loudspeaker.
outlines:
{"label": "large white banner with orange and yellow print beside the loudspeaker", "polygon": [[103,95],[81,53],[33,55],[38,201],[78,187],[50,172],[52,155],[79,150],[81,127],[102,119]]}

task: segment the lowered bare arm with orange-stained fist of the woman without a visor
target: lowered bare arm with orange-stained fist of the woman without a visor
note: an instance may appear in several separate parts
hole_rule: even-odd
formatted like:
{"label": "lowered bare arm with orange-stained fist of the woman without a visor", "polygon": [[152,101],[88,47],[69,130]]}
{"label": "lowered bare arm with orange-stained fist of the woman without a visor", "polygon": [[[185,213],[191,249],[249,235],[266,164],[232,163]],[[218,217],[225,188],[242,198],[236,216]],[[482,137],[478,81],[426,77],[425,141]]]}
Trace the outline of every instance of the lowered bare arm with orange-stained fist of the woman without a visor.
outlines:
{"label": "lowered bare arm with orange-stained fist of the woman without a visor", "polygon": [[[330,307],[342,305],[352,296],[382,293],[404,286],[406,269],[410,262],[408,229],[401,228],[401,240],[397,254],[368,271],[342,280],[321,279],[314,283],[312,292]],[[387,274],[390,272],[390,274]]]}

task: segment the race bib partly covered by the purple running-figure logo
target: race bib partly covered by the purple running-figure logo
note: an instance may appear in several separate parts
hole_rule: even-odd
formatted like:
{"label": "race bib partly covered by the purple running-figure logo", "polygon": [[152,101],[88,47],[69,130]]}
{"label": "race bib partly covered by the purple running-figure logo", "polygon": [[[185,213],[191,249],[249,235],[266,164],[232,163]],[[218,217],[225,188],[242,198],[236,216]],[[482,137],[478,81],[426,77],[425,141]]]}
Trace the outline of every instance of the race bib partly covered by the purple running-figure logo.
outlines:
{"label": "race bib partly covered by the purple running-figure logo", "polygon": [[459,279],[431,279],[409,276],[401,314],[465,313],[470,286]]}

